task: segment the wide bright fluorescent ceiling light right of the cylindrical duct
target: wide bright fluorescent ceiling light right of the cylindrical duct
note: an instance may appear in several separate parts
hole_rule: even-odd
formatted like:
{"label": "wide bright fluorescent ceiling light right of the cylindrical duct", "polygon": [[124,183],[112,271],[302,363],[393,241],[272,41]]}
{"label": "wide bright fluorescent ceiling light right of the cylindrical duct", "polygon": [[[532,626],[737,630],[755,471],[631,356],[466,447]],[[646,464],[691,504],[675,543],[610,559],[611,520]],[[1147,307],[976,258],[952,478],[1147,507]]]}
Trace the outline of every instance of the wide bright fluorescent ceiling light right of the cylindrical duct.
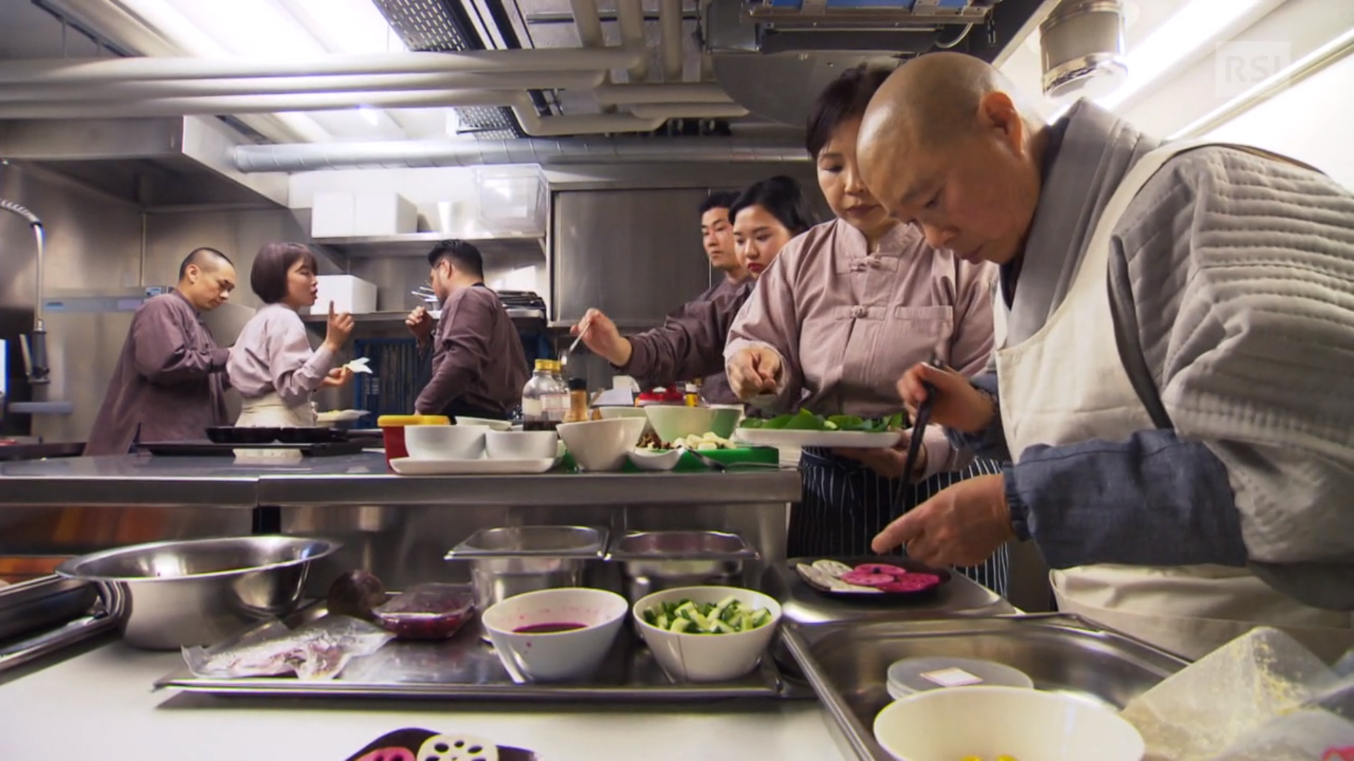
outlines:
{"label": "wide bright fluorescent ceiling light right of the cylindrical duct", "polygon": [[1213,42],[1233,22],[1252,11],[1262,0],[1193,0],[1174,16],[1166,19],[1156,31],[1128,51],[1128,81],[1114,92],[1098,97],[1105,108],[1128,100],[1162,74],[1193,56],[1200,47]]}

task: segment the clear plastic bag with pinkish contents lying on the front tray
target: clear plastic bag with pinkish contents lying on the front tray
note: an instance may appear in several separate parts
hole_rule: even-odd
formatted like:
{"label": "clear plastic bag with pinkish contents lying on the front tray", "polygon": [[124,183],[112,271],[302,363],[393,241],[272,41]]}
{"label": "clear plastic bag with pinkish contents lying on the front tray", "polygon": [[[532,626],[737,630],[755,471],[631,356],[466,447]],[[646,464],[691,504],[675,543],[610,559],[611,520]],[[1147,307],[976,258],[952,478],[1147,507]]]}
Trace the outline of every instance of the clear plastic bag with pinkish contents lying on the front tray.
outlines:
{"label": "clear plastic bag with pinkish contents lying on the front tray", "polygon": [[184,647],[183,659],[194,676],[203,678],[295,673],[307,681],[328,680],[338,676],[349,659],[371,655],[393,638],[349,616],[325,616],[294,630],[271,620],[211,647]]}

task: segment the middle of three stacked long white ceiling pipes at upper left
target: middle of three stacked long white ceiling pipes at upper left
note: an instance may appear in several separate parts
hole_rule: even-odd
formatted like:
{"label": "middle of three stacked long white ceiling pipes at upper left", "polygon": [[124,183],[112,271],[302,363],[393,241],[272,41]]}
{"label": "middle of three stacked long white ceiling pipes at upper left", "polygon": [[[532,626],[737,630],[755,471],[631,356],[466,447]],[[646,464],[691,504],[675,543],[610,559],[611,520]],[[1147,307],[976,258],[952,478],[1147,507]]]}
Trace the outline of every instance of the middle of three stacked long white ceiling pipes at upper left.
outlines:
{"label": "middle of three stacked long white ceiling pipes at upper left", "polygon": [[318,77],[249,77],[219,80],[142,80],[111,84],[12,85],[0,88],[0,103],[149,100],[292,95],[310,92],[408,92],[425,89],[592,89],[604,72],[447,72],[427,74],[337,74]]}

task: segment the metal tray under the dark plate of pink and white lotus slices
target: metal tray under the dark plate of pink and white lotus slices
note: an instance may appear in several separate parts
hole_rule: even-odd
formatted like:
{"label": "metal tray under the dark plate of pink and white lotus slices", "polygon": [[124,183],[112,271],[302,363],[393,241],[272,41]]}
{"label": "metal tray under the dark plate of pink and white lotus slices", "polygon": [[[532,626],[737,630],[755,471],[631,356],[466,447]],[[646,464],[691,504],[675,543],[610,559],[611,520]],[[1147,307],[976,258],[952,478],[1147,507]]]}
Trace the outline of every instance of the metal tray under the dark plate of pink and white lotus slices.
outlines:
{"label": "metal tray under the dark plate of pink and white lotus slices", "polygon": [[[891,596],[891,600],[854,600],[829,597],[804,582],[795,571],[796,563],[814,558],[791,558],[772,563],[762,571],[761,589],[780,600],[787,622],[819,624],[864,620],[933,620],[951,616],[1001,616],[1020,609],[999,594],[953,573],[948,584],[922,596]],[[862,561],[864,562],[864,561]],[[890,562],[880,559],[879,562]],[[864,597],[864,596],[862,596]]]}

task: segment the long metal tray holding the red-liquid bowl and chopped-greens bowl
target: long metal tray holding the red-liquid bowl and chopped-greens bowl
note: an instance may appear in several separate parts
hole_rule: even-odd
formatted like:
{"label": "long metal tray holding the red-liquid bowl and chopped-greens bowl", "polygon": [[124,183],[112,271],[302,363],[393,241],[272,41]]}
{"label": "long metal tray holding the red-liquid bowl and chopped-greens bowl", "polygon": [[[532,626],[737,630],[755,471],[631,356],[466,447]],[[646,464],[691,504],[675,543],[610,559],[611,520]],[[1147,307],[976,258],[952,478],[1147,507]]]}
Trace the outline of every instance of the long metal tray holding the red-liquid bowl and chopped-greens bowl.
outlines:
{"label": "long metal tray holding the red-liquid bowl and chopped-greens bowl", "polygon": [[[326,612],[317,604],[287,620],[295,627]],[[187,666],[156,681],[156,688],[244,696],[421,697],[445,700],[533,701],[708,701],[719,699],[812,699],[806,687],[787,684],[772,657],[743,678],[686,684],[669,678],[634,634],[621,627],[616,645],[586,682],[517,684],[479,628],[466,626],[445,642],[393,640],[366,658],[353,659],[337,678],[301,681],[294,677],[200,678]]]}

